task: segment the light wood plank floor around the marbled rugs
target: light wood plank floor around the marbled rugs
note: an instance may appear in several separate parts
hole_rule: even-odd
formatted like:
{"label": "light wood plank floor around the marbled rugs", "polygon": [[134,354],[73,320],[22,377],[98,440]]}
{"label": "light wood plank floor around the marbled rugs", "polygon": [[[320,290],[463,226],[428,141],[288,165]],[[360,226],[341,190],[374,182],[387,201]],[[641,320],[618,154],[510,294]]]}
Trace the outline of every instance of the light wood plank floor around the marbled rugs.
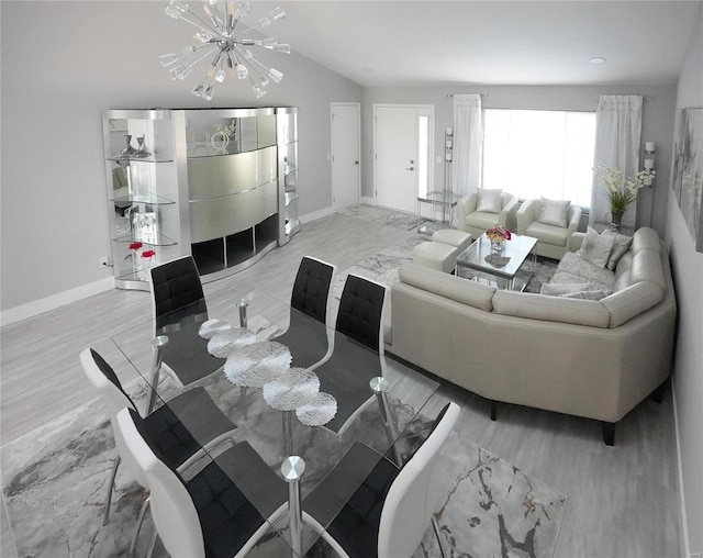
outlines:
{"label": "light wood plank floor around the marbled rugs", "polygon": [[[300,258],[311,255],[344,270],[409,234],[381,223],[334,214],[304,225],[292,242],[205,293],[237,281],[288,299]],[[112,290],[0,330],[2,446],[96,397],[78,362],[88,346],[110,359],[108,337],[148,317],[149,294]],[[116,349],[115,349],[116,350]],[[134,377],[118,370],[121,379]],[[461,435],[568,496],[558,558],[680,557],[679,502],[671,394],[643,402],[618,425],[616,446],[600,424],[516,405],[489,403],[444,383],[440,393],[462,406]],[[0,448],[1,449],[1,448]],[[12,556],[2,511],[2,556]]]}

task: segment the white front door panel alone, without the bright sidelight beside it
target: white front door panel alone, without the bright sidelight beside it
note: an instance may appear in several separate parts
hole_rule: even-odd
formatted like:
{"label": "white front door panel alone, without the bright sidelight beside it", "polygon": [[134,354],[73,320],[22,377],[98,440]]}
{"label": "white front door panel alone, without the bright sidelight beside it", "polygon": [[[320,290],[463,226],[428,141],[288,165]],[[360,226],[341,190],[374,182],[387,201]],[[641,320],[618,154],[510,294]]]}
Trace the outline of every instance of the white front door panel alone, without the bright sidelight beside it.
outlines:
{"label": "white front door panel alone, without the bright sidelight beside it", "polygon": [[376,107],[376,204],[415,213],[417,207],[417,111]]}

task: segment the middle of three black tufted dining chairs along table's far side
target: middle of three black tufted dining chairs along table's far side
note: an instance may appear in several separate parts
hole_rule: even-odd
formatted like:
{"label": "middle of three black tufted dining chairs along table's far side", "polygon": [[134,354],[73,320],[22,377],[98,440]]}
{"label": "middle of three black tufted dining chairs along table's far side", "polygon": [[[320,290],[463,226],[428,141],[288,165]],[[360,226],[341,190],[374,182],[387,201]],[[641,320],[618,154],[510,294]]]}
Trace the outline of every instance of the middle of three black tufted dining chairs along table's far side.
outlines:
{"label": "middle of three black tufted dining chairs along table's far side", "polygon": [[334,345],[330,326],[330,292],[337,266],[304,256],[290,299],[290,325],[275,337],[293,357],[291,366],[314,369],[330,358]]}

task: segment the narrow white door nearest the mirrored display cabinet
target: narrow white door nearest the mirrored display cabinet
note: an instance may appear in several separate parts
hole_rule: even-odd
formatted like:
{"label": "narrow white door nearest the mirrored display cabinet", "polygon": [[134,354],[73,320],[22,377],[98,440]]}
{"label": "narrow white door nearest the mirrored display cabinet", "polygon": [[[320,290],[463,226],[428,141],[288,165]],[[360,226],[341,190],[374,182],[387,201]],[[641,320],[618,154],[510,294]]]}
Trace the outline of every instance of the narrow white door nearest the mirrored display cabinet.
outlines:
{"label": "narrow white door nearest the mirrored display cabinet", "polygon": [[332,103],[332,209],[359,202],[361,181],[360,105]]}

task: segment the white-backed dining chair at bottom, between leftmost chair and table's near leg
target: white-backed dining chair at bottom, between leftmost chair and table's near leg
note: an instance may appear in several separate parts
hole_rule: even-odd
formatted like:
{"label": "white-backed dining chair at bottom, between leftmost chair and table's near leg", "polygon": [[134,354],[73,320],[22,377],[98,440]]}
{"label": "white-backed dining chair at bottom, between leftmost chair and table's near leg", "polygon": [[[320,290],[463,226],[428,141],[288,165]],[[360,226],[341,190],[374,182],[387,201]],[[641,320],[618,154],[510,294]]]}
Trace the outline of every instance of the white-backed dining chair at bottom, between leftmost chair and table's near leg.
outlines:
{"label": "white-backed dining chair at bottom, between leftmost chair and table's near leg", "polygon": [[286,481],[247,442],[183,480],[150,443],[144,421],[133,409],[120,411],[116,424],[146,479],[156,534],[174,558],[245,556],[269,531],[268,522],[288,510]]}

